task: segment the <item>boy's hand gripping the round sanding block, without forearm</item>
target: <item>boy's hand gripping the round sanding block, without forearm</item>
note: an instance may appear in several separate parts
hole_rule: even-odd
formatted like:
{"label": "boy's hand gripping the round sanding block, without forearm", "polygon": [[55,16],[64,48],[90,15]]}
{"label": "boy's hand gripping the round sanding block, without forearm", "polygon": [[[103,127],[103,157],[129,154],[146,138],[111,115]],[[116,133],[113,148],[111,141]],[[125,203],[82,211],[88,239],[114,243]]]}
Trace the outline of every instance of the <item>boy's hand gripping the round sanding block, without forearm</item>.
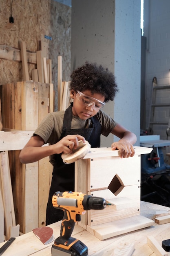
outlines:
{"label": "boy's hand gripping the round sanding block, without forearm", "polygon": [[85,143],[85,138],[78,134],[65,136],[55,144],[57,147],[57,152],[59,150],[60,153],[71,153],[73,149],[76,150],[76,148],[79,146],[79,140],[82,140]]}

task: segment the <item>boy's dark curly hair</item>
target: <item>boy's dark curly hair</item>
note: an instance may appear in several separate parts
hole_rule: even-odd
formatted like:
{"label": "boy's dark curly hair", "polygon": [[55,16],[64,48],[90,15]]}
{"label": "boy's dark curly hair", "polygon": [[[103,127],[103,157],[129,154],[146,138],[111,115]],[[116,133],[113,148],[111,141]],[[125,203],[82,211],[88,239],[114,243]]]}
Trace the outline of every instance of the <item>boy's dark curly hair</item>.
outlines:
{"label": "boy's dark curly hair", "polygon": [[91,90],[91,93],[100,93],[105,97],[105,102],[113,101],[116,93],[119,91],[115,76],[102,65],[86,62],[78,67],[71,74],[70,90]]}

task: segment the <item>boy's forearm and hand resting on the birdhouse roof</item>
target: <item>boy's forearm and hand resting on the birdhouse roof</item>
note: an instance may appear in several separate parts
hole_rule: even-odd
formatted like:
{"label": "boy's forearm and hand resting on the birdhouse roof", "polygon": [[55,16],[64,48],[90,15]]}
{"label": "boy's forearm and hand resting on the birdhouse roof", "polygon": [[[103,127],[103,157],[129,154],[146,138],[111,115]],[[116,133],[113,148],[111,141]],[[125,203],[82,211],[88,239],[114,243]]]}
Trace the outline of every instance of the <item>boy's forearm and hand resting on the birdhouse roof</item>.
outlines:
{"label": "boy's forearm and hand resting on the birdhouse roof", "polygon": [[137,141],[136,135],[120,124],[117,124],[111,133],[120,138],[119,141],[111,145],[112,150],[120,150],[121,158],[133,157],[135,155],[133,144]]}

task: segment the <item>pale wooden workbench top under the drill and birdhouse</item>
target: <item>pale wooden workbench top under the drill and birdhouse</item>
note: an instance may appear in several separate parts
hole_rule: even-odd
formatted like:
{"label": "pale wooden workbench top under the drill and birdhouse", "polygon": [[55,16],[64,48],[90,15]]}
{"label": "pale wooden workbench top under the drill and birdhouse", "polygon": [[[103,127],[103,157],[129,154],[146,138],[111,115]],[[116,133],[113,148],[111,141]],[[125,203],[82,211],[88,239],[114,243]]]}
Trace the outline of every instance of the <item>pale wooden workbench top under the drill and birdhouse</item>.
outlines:
{"label": "pale wooden workbench top under the drill and birdhouse", "polygon": [[[158,214],[158,212],[162,213],[162,211],[168,214],[170,208],[158,204],[141,202],[141,215],[147,218],[154,219],[155,215]],[[49,227],[53,229],[55,238],[60,236],[60,225],[61,221],[49,225]],[[134,243],[135,250],[132,256],[155,256],[156,254],[147,244],[147,237],[153,236],[159,245],[161,245],[162,240],[170,238],[170,224],[158,225],[153,222],[151,227],[132,231],[106,240],[99,240],[79,225],[75,225],[72,236],[81,240],[88,247],[88,255],[110,256],[113,255],[113,249]],[[2,247],[4,243],[0,243],[0,247]],[[53,243],[54,241],[48,245],[44,245],[31,231],[17,237],[4,252],[3,256],[51,256],[51,246]],[[170,255],[170,252],[166,254]]]}

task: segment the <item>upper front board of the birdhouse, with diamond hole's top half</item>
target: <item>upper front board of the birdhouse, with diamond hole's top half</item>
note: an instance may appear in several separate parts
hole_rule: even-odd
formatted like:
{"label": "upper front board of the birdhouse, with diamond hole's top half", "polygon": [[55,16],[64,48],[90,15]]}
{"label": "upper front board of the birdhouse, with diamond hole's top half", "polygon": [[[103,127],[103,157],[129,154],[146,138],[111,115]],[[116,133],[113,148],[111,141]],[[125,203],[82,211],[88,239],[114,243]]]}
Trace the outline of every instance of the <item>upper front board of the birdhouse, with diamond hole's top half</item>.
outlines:
{"label": "upper front board of the birdhouse, with diamond hole's top half", "polygon": [[[93,158],[88,170],[88,191],[110,186],[110,189],[117,196],[118,193],[116,192],[119,186],[122,186],[122,189],[130,185],[138,184],[140,186],[140,162],[141,159],[138,155],[123,159],[120,159],[120,157]],[[113,164],[114,168],[112,167]],[[136,166],[135,172],[134,166]],[[101,179],[104,169],[107,175]],[[128,172],[129,175],[124,175],[125,172]],[[112,183],[110,184],[110,182]]]}

